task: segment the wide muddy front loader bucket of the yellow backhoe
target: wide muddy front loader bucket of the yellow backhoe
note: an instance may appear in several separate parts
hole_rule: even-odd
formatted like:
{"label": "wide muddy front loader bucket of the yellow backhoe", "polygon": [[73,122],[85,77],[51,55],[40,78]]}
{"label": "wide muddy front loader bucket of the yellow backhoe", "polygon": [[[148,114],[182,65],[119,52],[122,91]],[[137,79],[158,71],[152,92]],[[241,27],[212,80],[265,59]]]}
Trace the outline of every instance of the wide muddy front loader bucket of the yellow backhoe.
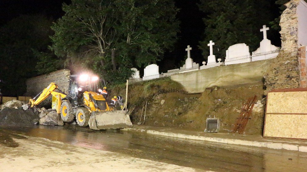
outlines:
{"label": "wide muddy front loader bucket of the yellow backhoe", "polygon": [[88,125],[94,130],[132,127],[130,117],[124,110],[92,112]]}

